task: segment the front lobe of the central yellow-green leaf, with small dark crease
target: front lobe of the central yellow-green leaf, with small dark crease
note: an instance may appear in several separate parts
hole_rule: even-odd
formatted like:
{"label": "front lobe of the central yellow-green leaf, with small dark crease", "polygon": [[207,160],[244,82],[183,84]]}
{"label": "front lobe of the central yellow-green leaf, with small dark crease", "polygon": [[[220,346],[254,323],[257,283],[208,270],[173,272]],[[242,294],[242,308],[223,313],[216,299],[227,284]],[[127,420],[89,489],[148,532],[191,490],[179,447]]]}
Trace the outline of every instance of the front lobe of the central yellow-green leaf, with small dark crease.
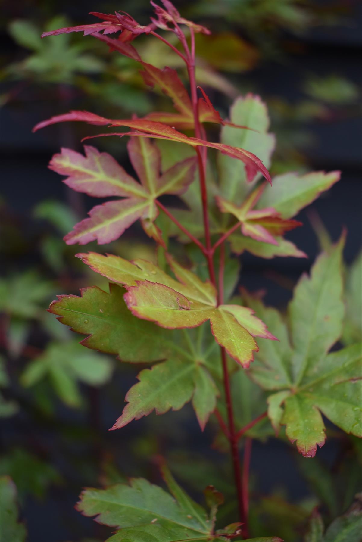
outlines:
{"label": "front lobe of the central yellow-green leaf, with small dark crease", "polygon": [[180,292],[157,282],[137,282],[137,286],[128,288],[124,298],[134,316],[171,330],[196,327],[209,318],[210,307],[197,301],[191,303]]}

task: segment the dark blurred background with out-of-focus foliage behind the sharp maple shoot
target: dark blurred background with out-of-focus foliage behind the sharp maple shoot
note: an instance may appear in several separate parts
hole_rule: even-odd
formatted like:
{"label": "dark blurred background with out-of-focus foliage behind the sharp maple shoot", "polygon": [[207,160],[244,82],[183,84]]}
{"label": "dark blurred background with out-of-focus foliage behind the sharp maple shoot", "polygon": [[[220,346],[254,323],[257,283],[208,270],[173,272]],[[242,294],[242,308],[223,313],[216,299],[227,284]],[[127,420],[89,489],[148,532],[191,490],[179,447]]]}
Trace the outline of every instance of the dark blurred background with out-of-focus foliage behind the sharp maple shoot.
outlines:
{"label": "dark blurred background with out-of-focus foliage behind the sharp maple shoot", "polygon": [[[313,261],[319,244],[326,248],[329,235],[337,238],[346,225],[346,266],[350,270],[344,341],[348,344],[360,331],[355,303],[361,295],[358,263],[352,265],[359,248],[360,224],[360,3],[175,3],[185,17],[212,30],[211,36],[197,35],[197,79],[222,115],[227,117],[238,94],[260,93],[267,102],[272,131],[277,135],[273,173],[312,167],[343,171],[342,181],[331,195],[302,213],[305,227],[290,235],[311,256],[309,263],[299,259],[266,263],[247,255],[242,282],[251,290],[267,288],[267,301],[285,306],[290,289]],[[73,510],[80,489],[123,481],[130,475],[158,482],[152,461],[156,454],[166,456],[174,474],[196,497],[205,481],[225,494],[221,522],[232,520],[235,509],[225,443],[221,436],[214,439],[216,426],[210,423],[201,435],[186,406],[108,433],[120,414],[126,390],[135,382],[137,367],[120,368],[117,360],[84,349],[77,344],[78,338],[46,312],[56,294],[77,294],[87,285],[107,285],[74,258],[79,249],[62,240],[77,218],[85,215],[90,201],[70,193],[46,169],[60,145],[80,150],[83,127],[61,125],[36,135],[30,134],[31,127],[69,108],[116,118],[170,108],[163,95],[145,89],[132,60],[110,54],[97,40],[81,34],[41,40],[44,30],[93,22],[87,15],[90,9],[122,9],[140,23],[146,23],[151,14],[146,0],[92,5],[20,0],[2,6],[0,23],[0,471],[16,483],[29,542],[103,540],[103,528]],[[141,36],[137,48],[145,61],[178,68],[185,77],[179,57],[158,40]],[[124,144],[106,138],[96,146],[127,166]],[[140,230],[101,249],[128,259],[156,258],[153,244]],[[242,378],[241,372],[238,375],[235,378]],[[244,391],[242,397],[236,393],[235,399],[240,400],[243,423],[248,423],[260,414],[260,390],[246,378],[237,385]],[[315,506],[328,522],[351,504],[361,484],[362,449],[356,438],[342,435],[330,425],[318,459],[307,461],[286,440],[275,440],[269,429],[269,425],[260,425],[260,430],[250,433],[255,438],[252,532],[254,536],[273,533],[296,542],[303,539]]]}

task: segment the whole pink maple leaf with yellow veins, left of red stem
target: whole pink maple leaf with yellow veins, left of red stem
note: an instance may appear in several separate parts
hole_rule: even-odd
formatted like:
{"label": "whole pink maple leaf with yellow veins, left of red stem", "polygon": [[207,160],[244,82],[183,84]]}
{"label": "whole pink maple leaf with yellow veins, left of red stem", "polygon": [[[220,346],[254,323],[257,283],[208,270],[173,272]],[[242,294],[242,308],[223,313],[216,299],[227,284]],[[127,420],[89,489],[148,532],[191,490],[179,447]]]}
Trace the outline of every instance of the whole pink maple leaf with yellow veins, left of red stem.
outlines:
{"label": "whole pink maple leaf with yellow veins, left of red stem", "polygon": [[194,177],[196,158],[182,160],[160,175],[159,151],[149,139],[131,138],[128,153],[140,183],[112,156],[94,147],[85,146],[85,156],[62,149],[51,159],[50,169],[68,175],[64,182],[73,190],[95,197],[125,198],[94,207],[89,218],[76,224],[64,237],[67,244],[86,244],[94,239],[99,244],[109,243],[139,218],[146,234],[164,244],[153,224],[158,215],[155,200],[163,193],[180,194],[186,190]]}

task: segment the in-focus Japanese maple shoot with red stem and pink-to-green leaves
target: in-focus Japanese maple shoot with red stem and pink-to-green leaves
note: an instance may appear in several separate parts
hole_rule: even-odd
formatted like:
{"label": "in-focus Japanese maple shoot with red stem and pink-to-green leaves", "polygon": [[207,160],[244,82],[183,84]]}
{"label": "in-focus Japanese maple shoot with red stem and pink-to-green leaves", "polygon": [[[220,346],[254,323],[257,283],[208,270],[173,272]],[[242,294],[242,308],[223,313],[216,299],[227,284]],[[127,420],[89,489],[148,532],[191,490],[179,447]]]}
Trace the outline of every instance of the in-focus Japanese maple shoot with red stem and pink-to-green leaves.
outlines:
{"label": "in-focus Japanese maple shoot with red stem and pink-to-green leaves", "polygon": [[[275,142],[268,133],[263,102],[251,94],[240,97],[232,105],[230,120],[222,119],[195,76],[195,33],[209,30],[185,20],[168,0],[162,0],[163,7],[151,4],[156,15],[147,26],[122,12],[93,13],[100,22],[43,34],[84,31],[87,39],[104,42],[138,62],[145,83],[160,88],[175,109],[141,119],[71,111],[34,128],[83,121],[112,128],[84,139],[129,137],[133,176],[94,146],[85,145],[84,154],[62,149],[51,159],[49,167],[66,176],[64,182],[73,190],[117,198],[96,205],[65,241],[109,243],[140,220],[158,255],[157,266],[110,254],[78,254],[111,281],[109,293],[86,287],[81,296],[60,295],[49,311],[87,335],[82,340],[85,347],[116,354],[122,362],[153,364],[140,372],[111,429],[121,429],[153,410],[163,414],[180,409],[189,401],[201,430],[212,415],[220,435],[229,441],[238,517],[216,528],[221,493],[205,480],[206,512],[177,485],[163,460],[161,473],[174,499],[144,479],[133,479],[129,485],[87,489],[77,509],[117,527],[109,539],[114,542],[248,539],[252,435],[266,424],[276,435],[283,434],[285,426],[289,441],[296,442],[303,456],[313,457],[326,438],[323,414],[346,433],[361,436],[360,346],[348,344],[328,353],[342,332],[344,235],[318,258],[310,276],[302,276],[287,317],[265,307],[260,295],[244,289],[235,295],[238,261],[230,253],[305,257],[283,234],[301,225],[293,217],[337,182],[339,172],[287,173],[272,182],[267,167]],[[182,59],[188,86],[176,70],[159,69],[141,59],[132,43],[140,34],[161,40]],[[208,140],[210,123],[221,126],[219,142]],[[128,131],[118,131],[120,127]],[[165,194],[178,196],[182,205],[170,205],[170,198],[162,198]],[[178,258],[170,253],[175,237]],[[242,391],[236,389],[235,396],[234,386],[233,396],[231,380],[244,374],[264,390],[265,404],[262,413],[242,427],[242,413],[234,407]]]}

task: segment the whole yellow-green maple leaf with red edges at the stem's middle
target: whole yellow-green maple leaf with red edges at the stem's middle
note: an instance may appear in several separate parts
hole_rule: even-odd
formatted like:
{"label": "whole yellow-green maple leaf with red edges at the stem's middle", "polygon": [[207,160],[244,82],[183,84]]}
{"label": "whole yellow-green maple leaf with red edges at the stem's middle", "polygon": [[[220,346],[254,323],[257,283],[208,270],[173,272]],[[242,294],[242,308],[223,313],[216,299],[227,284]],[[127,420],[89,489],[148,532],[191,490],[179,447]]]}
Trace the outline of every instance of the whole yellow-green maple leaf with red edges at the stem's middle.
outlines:
{"label": "whole yellow-green maple leaf with red edges at the stem's middle", "polygon": [[180,266],[167,255],[178,280],[153,263],[96,253],[78,254],[96,273],[119,282],[127,289],[125,301],[132,314],[167,329],[197,327],[210,320],[218,344],[244,367],[253,360],[258,347],[254,337],[275,339],[254,311],[239,305],[217,305],[210,282]]}

